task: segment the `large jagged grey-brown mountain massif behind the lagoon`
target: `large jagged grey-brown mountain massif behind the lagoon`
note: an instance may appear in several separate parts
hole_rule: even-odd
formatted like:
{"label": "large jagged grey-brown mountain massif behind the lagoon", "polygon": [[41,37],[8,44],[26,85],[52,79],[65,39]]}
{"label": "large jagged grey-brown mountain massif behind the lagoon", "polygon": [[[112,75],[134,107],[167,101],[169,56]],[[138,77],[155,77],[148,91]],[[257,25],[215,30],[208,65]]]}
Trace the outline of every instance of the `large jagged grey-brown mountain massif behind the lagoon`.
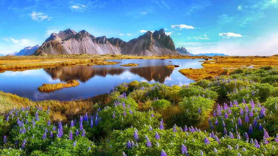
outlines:
{"label": "large jagged grey-brown mountain massif behind the lagoon", "polygon": [[72,29],[52,33],[34,55],[56,54],[112,54],[112,55],[179,55],[175,44],[163,29],[125,42],[119,38],[95,37],[85,30]]}

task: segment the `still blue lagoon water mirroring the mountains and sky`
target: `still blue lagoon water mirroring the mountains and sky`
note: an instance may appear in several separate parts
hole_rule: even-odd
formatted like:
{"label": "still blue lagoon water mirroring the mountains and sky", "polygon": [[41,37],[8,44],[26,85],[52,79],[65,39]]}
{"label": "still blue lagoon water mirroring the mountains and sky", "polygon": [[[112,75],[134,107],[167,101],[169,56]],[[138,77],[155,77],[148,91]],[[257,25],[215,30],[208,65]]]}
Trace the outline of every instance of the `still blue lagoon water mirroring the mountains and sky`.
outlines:
{"label": "still blue lagoon water mirroring the mountains and sky", "polygon": [[[167,85],[187,85],[194,80],[179,73],[179,69],[201,68],[203,59],[124,59],[115,65],[78,65],[52,67],[25,71],[5,71],[0,73],[0,90],[27,97],[33,100],[72,100],[89,98],[111,91],[121,82],[164,83]],[[169,62],[172,61],[172,62]],[[121,64],[136,63],[137,67],[121,67]],[[166,65],[179,65],[167,69]],[[43,83],[59,83],[76,79],[80,84],[50,93],[38,91]]]}

